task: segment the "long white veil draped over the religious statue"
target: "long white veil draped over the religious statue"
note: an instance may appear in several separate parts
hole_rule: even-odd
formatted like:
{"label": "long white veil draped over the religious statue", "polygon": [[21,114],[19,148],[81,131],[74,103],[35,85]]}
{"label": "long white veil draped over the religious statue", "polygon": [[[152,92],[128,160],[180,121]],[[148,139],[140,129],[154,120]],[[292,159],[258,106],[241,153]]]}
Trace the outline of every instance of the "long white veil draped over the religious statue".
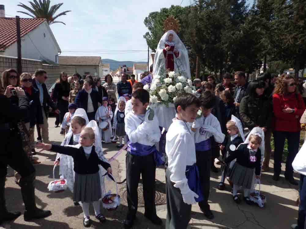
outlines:
{"label": "long white veil draped over the religious statue", "polygon": [[175,73],[181,73],[186,78],[190,79],[190,65],[189,65],[189,57],[188,51],[181,41],[181,39],[177,36],[177,34],[173,30],[167,31],[162,38],[160,39],[154,57],[153,64],[153,77],[155,75],[163,75],[162,73],[166,70],[166,58],[164,56],[163,50],[165,49],[165,43],[168,42],[169,35],[173,35],[173,39],[171,44],[175,45],[174,51],[179,52],[179,56],[174,56],[174,71]]}

